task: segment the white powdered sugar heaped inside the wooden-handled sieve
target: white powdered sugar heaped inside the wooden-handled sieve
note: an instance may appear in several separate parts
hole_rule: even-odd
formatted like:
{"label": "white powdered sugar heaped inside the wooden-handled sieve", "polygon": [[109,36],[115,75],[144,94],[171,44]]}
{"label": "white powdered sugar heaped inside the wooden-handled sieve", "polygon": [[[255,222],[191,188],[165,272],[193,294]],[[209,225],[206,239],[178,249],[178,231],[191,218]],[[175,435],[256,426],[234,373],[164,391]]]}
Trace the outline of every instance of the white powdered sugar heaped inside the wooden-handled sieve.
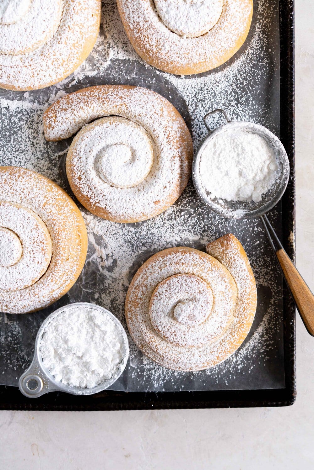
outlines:
{"label": "white powdered sugar heaped inside the wooden-handled sieve", "polygon": [[201,154],[200,176],[211,197],[262,200],[277,178],[274,150],[260,135],[241,129],[219,132]]}

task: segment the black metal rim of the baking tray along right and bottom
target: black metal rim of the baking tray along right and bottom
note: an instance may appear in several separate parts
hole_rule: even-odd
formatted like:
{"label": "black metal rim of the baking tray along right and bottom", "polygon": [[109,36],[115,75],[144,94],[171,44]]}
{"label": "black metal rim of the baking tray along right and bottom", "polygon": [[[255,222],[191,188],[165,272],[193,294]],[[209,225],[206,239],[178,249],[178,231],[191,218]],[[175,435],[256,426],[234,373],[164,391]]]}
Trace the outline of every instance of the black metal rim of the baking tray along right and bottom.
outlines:
{"label": "black metal rim of the baking tray along right and bottom", "polygon": [[[290,182],[282,199],[282,243],[295,258],[295,134],[294,134],[294,2],[280,0],[281,140],[290,159]],[[284,286],[283,348],[285,388],[202,392],[104,391],[89,397],[51,393],[25,398],[16,387],[0,386],[0,409],[92,411],[208,407],[266,407],[292,405],[296,398],[295,307]]]}

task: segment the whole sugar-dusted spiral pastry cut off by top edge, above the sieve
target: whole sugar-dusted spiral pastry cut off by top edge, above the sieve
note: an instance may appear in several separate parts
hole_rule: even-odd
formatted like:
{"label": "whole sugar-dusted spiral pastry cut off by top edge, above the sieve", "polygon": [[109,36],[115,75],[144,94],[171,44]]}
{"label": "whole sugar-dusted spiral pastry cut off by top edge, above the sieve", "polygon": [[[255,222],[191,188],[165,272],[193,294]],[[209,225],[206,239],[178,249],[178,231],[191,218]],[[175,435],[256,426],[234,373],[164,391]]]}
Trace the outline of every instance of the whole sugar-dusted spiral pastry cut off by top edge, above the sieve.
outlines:
{"label": "whole sugar-dusted spiral pastry cut off by top edge, above the sieve", "polygon": [[218,67],[242,46],[250,30],[252,0],[117,0],[137,54],[178,75]]}

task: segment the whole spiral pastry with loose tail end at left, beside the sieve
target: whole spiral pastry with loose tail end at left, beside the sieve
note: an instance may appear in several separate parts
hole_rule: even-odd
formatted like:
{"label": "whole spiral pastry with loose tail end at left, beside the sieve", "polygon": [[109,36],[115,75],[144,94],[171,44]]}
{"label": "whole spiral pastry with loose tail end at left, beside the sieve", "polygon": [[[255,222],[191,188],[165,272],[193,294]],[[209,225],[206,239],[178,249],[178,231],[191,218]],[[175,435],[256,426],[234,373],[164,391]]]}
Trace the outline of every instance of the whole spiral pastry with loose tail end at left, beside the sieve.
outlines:
{"label": "whole spiral pastry with loose tail end at left, beside the sieve", "polygon": [[79,131],[66,158],[72,191],[90,212],[114,222],[160,214],[191,174],[183,118],[146,88],[104,85],[68,94],[44,113],[44,131],[49,141]]}

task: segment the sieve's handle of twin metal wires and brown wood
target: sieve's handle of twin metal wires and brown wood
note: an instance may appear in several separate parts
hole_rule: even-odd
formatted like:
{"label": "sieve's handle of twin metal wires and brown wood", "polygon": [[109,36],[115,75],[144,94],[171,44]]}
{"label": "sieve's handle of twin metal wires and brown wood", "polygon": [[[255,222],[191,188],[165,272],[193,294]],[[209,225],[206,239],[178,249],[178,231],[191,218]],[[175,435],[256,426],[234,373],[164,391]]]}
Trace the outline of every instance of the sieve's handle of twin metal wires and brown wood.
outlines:
{"label": "sieve's handle of twin metal wires and brown wood", "polygon": [[262,219],[266,234],[268,235],[293,301],[296,304],[298,313],[308,333],[314,336],[314,295],[283,249],[282,243],[275,234],[274,228],[266,215],[261,215],[260,218]]}

